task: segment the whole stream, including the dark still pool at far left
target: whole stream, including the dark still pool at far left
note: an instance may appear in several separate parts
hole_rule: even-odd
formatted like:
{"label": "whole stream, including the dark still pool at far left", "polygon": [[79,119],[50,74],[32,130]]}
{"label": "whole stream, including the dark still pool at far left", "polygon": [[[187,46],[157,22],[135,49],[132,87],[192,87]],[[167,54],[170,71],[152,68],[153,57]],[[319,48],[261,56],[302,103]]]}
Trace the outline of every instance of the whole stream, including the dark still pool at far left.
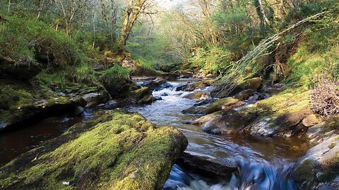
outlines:
{"label": "whole stream, including the dark still pool at far left", "polygon": [[[182,114],[182,110],[196,103],[183,98],[189,92],[175,90],[183,82],[188,81],[168,82],[170,87],[153,91],[153,96],[162,97],[160,101],[147,106],[132,106],[124,109],[141,113],[157,125],[177,127],[189,140],[188,150],[204,153],[218,160],[232,161],[239,167],[230,179],[223,179],[187,170],[177,163],[172,167],[169,179],[165,183],[165,190],[297,189],[290,179],[290,170],[297,158],[303,156],[309,148],[306,141],[293,138],[256,138],[239,134],[217,136],[206,134],[199,126],[184,124],[195,120],[198,116]],[[203,90],[210,91],[211,87]],[[88,113],[82,117],[49,118],[31,127],[1,134],[0,166],[21,153],[35,148],[42,141],[58,137],[71,125],[87,118],[90,118]]]}

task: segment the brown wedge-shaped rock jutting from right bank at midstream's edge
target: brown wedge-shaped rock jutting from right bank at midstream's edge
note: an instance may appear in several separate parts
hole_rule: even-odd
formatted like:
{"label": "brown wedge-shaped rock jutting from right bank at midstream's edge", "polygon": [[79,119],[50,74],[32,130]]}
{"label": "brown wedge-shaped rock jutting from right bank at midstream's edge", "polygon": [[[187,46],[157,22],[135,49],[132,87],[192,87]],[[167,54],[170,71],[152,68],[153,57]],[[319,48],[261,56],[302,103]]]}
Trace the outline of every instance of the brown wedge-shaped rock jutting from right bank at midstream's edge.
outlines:
{"label": "brown wedge-shaped rock jutting from right bank at midstream's edge", "polygon": [[258,116],[258,110],[244,108],[242,110],[225,110],[221,115],[206,122],[202,129],[210,134],[237,133],[249,125]]}

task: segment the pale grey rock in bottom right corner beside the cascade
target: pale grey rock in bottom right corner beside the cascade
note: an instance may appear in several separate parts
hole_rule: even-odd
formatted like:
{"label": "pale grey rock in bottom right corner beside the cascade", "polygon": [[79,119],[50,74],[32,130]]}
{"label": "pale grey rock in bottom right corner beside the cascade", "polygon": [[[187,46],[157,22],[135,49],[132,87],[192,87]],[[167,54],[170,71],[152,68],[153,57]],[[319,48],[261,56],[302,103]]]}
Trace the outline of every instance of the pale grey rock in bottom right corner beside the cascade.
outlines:
{"label": "pale grey rock in bottom right corner beside the cascade", "polygon": [[331,137],[309,149],[300,158],[292,172],[292,178],[301,189],[338,189],[339,140]]}

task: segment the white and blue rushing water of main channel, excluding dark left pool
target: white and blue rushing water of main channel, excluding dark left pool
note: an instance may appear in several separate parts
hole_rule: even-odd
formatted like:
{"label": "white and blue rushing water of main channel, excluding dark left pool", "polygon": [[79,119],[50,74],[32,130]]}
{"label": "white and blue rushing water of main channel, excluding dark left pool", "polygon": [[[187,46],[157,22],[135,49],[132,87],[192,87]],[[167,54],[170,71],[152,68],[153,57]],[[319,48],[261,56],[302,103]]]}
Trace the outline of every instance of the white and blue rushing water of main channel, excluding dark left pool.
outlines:
{"label": "white and blue rushing water of main channel, excluding dark left pool", "polygon": [[[170,84],[172,87],[153,92],[153,96],[162,97],[161,101],[127,110],[141,113],[157,125],[177,127],[189,139],[189,151],[204,153],[218,160],[231,160],[239,165],[239,169],[231,179],[222,179],[174,165],[164,189],[297,189],[290,179],[290,170],[297,158],[307,151],[306,142],[292,138],[258,139],[239,134],[206,134],[199,126],[183,124],[196,119],[194,115],[181,112],[193,106],[195,101],[183,98],[189,92],[175,91],[179,82]],[[210,91],[209,88],[204,90]]]}

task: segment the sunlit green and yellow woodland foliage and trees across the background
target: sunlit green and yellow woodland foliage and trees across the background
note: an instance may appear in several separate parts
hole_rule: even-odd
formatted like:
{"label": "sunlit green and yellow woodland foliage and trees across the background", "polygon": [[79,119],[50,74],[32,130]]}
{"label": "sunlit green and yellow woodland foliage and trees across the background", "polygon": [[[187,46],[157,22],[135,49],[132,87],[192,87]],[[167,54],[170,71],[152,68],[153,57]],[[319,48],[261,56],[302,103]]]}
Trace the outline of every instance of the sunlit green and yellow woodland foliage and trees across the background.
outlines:
{"label": "sunlit green and yellow woodland foliage and trees across the background", "polygon": [[188,0],[163,8],[155,0],[1,1],[0,56],[47,71],[73,65],[80,81],[93,75],[93,65],[105,64],[108,51],[129,51],[138,64],[155,70],[222,77],[265,39],[326,12],[284,34],[243,68],[275,81],[311,84],[314,70],[338,68],[338,4]]}

